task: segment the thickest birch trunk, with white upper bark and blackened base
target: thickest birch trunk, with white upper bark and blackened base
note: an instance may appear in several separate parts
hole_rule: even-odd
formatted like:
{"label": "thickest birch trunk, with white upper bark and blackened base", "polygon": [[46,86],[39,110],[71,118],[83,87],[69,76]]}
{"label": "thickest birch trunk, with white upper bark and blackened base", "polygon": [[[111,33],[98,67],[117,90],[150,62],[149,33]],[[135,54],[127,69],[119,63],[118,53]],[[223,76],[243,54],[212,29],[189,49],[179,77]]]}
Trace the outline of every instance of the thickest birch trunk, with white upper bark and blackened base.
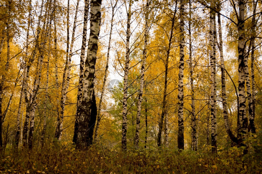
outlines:
{"label": "thickest birch trunk, with white upper bark and blackened base", "polygon": [[78,149],[87,149],[87,147],[92,144],[97,116],[94,74],[101,22],[101,1],[91,0],[90,6],[90,36],[84,71],[83,99],[80,105],[78,141],[76,143],[76,148]]}

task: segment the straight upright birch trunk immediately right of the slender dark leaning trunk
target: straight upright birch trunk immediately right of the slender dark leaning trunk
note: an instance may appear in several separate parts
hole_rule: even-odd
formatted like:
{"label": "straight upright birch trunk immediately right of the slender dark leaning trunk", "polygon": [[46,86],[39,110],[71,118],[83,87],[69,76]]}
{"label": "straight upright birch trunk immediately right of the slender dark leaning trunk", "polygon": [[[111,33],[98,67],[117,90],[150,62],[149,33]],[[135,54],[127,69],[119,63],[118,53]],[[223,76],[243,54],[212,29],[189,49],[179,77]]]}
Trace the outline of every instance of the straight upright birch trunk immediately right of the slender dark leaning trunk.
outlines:
{"label": "straight upright birch trunk immediately right of the slender dark leaning trunk", "polygon": [[184,149],[184,1],[180,0],[180,41],[179,41],[179,74],[178,74],[178,148]]}

